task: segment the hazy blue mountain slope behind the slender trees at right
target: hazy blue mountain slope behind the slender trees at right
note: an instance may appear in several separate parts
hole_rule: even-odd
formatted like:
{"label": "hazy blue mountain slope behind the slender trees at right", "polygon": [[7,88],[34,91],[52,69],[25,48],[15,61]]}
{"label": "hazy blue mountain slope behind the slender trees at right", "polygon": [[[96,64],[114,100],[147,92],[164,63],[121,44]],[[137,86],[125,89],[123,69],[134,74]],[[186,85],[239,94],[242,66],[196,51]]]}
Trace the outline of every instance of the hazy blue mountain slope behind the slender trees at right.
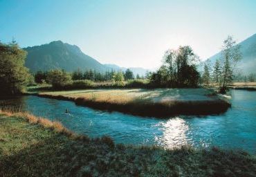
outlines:
{"label": "hazy blue mountain slope behind the slender trees at right", "polygon": [[[239,44],[242,59],[237,63],[238,70],[243,75],[248,75],[250,73],[256,73],[256,34],[248,37]],[[207,62],[214,63],[216,59],[221,58],[221,52],[213,55]]]}

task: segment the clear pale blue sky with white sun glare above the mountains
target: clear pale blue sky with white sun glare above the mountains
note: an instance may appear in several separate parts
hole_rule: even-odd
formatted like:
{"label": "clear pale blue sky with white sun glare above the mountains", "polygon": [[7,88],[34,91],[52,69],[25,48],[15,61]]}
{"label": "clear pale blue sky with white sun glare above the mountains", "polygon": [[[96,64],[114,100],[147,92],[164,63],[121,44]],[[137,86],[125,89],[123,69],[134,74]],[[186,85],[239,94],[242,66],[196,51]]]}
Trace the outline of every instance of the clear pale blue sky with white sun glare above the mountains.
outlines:
{"label": "clear pale blue sky with white sun glare above the mountains", "polygon": [[155,68],[168,48],[190,45],[201,59],[223,39],[256,33],[256,1],[0,0],[0,40],[21,47],[62,40],[99,62]]}

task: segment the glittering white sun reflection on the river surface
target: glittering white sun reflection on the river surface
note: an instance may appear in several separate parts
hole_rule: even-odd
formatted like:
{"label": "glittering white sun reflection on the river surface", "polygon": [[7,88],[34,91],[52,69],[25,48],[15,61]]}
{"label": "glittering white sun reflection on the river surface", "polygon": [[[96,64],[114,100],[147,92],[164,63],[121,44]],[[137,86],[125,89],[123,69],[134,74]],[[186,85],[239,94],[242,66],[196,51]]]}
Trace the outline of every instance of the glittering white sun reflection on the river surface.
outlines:
{"label": "glittering white sun reflection on the river surface", "polygon": [[181,147],[188,145],[186,133],[189,129],[188,124],[181,118],[172,118],[167,122],[160,122],[158,125],[163,131],[163,136],[156,136],[158,145],[168,148]]}

